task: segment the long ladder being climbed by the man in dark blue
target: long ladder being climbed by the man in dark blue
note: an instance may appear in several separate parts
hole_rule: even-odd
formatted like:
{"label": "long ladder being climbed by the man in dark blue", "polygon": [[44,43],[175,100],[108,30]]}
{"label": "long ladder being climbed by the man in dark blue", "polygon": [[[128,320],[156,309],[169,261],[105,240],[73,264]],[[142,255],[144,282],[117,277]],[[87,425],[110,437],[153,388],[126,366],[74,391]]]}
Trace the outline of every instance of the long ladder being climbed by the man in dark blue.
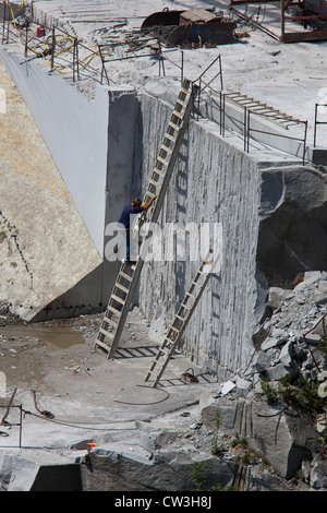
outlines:
{"label": "long ladder being climbed by the man in dark blue", "polygon": [[[197,93],[197,87],[184,80],[174,105],[159,155],[157,157],[152,178],[148,182],[144,202],[147,203],[154,195],[157,199],[149,211],[138,215],[136,225],[131,230],[137,235],[141,226],[147,220],[155,223],[165,199],[172,169],[183,140],[183,134],[193,108],[193,99]],[[122,263],[113,286],[105,317],[102,319],[95,347],[99,346],[108,351],[108,358],[113,358],[119,345],[121,333],[130,310],[131,302],[138,283],[140,274],[144,264],[144,251],[141,249],[143,258],[137,259],[135,264]]]}

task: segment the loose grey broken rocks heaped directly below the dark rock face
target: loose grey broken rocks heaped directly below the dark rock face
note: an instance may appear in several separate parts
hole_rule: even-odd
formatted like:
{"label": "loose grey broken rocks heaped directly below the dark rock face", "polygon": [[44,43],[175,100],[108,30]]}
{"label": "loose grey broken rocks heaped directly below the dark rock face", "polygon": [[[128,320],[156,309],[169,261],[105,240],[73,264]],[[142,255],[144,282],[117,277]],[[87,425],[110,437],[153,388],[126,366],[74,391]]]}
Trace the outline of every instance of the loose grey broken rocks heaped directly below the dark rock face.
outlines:
{"label": "loose grey broken rocks heaped directly below the dark rock face", "polygon": [[270,288],[268,302],[275,310],[263,325],[254,372],[269,381],[299,374],[325,380],[327,273],[305,273],[293,290]]}

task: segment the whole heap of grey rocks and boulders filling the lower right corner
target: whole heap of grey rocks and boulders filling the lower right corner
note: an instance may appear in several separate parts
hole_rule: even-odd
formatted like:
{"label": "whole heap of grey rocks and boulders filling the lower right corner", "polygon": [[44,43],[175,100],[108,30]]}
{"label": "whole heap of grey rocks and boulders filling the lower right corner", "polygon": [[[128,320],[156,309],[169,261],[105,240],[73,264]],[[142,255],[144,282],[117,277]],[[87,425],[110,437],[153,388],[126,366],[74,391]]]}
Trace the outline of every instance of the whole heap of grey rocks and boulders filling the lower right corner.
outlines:
{"label": "whole heap of grey rocks and boulders filling the lower right corner", "polygon": [[[292,290],[271,288],[268,306],[272,315],[255,339],[256,355],[246,373],[201,396],[197,416],[194,411],[179,414],[189,418],[180,430],[175,419],[166,429],[156,428],[156,422],[138,425],[138,443],[150,453],[146,463],[138,458],[135,467],[135,456],[131,461],[111,448],[92,452],[93,468],[98,472],[99,465],[101,469],[108,465],[106,482],[114,463],[120,465],[125,490],[134,489],[138,476],[145,474],[143,489],[194,490],[196,473],[208,490],[217,486],[241,491],[327,490],[327,368],[322,343],[327,273],[306,273]],[[269,403],[264,383],[277,390],[281,379],[292,390],[299,379],[319,383],[323,411],[307,410],[291,401]],[[171,480],[171,469],[179,480]],[[86,487],[95,486],[90,476],[83,476]],[[112,486],[116,484],[112,476]]]}

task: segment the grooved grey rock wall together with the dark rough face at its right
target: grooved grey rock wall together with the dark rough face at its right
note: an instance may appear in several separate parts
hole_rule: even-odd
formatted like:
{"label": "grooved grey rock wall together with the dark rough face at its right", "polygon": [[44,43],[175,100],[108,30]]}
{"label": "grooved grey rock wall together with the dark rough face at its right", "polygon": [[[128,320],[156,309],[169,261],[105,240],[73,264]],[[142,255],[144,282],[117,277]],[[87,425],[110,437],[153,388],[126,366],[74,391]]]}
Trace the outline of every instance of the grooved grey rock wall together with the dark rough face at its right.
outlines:
{"label": "grooved grey rock wall together with the dark rough face at its right", "polygon": [[[145,176],[136,174],[140,191],[153,170],[170,112],[161,99],[141,96],[138,150]],[[326,269],[326,175],[301,165],[264,168],[221,139],[217,128],[208,121],[190,122],[159,225],[165,230],[169,223],[221,223],[220,272],[211,276],[191,319],[184,350],[226,378],[249,365],[269,286],[290,285],[300,272]],[[162,261],[144,267],[140,305],[149,319],[169,324],[198,264],[189,255],[165,260],[167,246],[164,238]]]}

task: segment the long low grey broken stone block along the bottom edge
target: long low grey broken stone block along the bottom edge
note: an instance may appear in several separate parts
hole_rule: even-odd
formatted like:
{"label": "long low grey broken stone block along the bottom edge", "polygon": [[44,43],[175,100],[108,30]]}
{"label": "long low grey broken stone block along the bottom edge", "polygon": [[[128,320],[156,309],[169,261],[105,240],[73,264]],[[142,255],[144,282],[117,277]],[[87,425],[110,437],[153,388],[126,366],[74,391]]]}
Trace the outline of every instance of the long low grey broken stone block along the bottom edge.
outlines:
{"label": "long low grey broken stone block along the bottom edge", "polygon": [[196,490],[192,469],[202,464],[205,482],[210,489],[220,482],[233,484],[238,464],[216,456],[194,455],[190,451],[166,451],[146,460],[108,450],[89,453],[93,472],[82,466],[83,490],[88,491],[182,491]]}

